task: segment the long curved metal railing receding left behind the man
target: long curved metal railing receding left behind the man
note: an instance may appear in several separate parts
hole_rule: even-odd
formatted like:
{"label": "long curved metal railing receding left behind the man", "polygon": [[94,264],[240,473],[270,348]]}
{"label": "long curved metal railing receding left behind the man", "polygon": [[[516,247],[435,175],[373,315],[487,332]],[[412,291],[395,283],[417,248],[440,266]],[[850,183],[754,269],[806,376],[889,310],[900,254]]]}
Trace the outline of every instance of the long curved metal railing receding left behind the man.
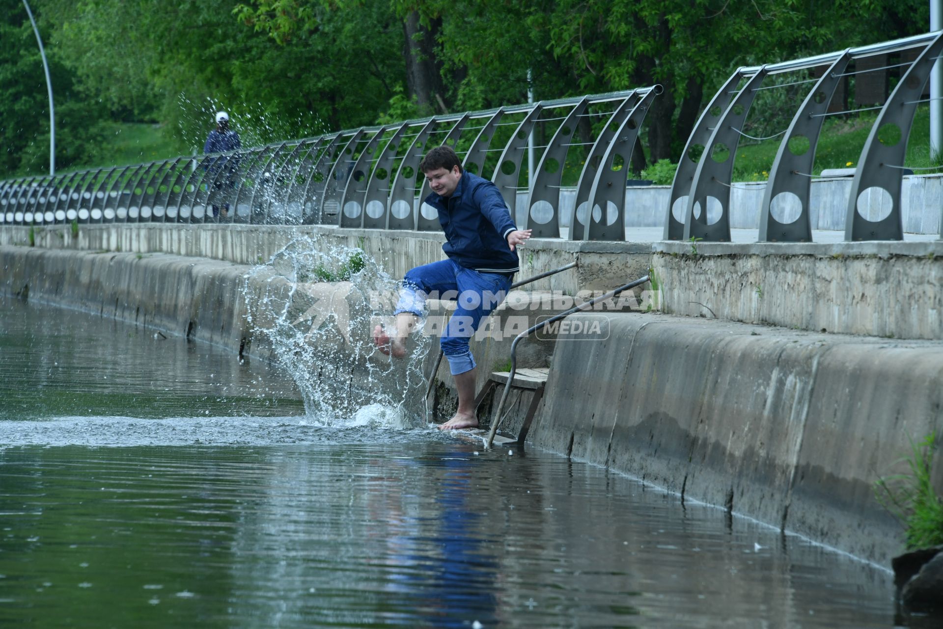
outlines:
{"label": "long curved metal railing receding left behind the man", "polygon": [[[438,230],[438,218],[422,203],[429,189],[419,164],[426,150],[447,144],[465,169],[495,181],[512,211],[525,190],[526,223],[539,235],[559,235],[560,189],[569,183],[582,190],[585,206],[571,239],[623,240],[624,229],[614,225],[624,223],[637,129],[661,91],[656,85],[8,180],[0,182],[0,224],[324,223]],[[526,167],[529,148],[536,173]],[[604,217],[600,207],[606,207]],[[605,228],[597,228],[601,222]]]}

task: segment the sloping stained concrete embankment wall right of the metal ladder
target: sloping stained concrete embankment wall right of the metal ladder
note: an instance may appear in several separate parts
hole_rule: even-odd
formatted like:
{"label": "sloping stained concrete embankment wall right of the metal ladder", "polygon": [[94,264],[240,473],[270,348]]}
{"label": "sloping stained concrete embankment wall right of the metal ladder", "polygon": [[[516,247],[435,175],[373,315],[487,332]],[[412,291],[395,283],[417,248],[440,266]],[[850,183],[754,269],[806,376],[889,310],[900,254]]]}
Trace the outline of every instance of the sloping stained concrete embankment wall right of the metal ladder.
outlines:
{"label": "sloping stained concrete embankment wall right of the metal ladder", "polygon": [[[943,433],[941,344],[609,320],[607,339],[557,340],[535,443],[884,565],[902,552],[873,483]],[[938,451],[934,468],[943,492]]]}

